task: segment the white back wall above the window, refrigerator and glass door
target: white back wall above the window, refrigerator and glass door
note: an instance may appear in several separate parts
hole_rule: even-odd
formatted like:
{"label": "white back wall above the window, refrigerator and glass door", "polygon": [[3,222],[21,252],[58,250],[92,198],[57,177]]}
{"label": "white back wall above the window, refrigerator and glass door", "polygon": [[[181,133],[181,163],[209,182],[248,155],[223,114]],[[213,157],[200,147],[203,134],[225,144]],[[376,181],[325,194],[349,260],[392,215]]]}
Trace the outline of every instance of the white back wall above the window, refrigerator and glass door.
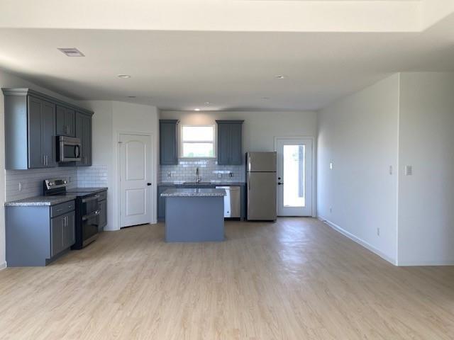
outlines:
{"label": "white back wall above the window, refrigerator and glass door", "polygon": [[274,151],[275,137],[317,134],[317,114],[314,111],[162,111],[162,119],[179,119],[181,124],[216,124],[215,120],[238,119],[243,124],[243,150]]}

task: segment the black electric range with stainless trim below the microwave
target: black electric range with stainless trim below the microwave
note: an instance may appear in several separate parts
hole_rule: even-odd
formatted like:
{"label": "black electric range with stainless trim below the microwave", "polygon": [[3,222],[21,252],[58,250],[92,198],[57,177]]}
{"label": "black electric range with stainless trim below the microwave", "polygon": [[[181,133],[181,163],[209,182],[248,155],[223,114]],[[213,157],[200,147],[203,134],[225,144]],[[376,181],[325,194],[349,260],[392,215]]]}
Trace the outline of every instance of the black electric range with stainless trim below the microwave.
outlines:
{"label": "black electric range with stainless trim below the microwave", "polygon": [[75,232],[76,242],[71,249],[82,249],[94,242],[98,236],[99,193],[100,188],[67,189],[64,179],[46,179],[43,181],[44,196],[72,196],[76,202]]}

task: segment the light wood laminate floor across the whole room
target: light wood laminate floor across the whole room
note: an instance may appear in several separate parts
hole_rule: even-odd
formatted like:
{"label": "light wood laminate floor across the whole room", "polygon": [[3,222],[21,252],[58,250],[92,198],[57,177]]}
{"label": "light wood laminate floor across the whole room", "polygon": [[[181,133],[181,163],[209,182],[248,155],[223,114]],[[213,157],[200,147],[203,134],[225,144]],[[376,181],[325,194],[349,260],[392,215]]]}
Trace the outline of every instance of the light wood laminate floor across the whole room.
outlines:
{"label": "light wood laminate floor across the whole room", "polygon": [[0,339],[454,339],[454,267],[397,268],[309,218],[104,232],[46,268],[0,271]]}

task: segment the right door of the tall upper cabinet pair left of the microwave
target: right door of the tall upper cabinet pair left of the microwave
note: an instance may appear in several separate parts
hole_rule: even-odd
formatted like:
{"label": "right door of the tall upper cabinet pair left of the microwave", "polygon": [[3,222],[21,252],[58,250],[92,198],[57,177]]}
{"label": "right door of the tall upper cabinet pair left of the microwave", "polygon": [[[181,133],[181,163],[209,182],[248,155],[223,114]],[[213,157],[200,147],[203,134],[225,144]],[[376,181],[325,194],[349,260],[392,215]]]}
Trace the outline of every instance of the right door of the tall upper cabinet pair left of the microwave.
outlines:
{"label": "right door of the tall upper cabinet pair left of the microwave", "polygon": [[41,149],[45,156],[45,166],[55,167],[55,104],[43,101],[41,110]]}

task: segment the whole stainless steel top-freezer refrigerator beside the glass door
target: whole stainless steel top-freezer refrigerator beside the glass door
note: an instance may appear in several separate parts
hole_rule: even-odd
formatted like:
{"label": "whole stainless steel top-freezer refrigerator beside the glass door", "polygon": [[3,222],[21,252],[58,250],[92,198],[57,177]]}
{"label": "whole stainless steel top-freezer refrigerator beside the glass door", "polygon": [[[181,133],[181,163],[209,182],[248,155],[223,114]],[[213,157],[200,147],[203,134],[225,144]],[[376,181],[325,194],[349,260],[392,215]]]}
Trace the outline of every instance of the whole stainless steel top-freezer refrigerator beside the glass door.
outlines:
{"label": "whole stainless steel top-freezer refrigerator beside the glass door", "polygon": [[276,220],[276,152],[246,154],[248,220]]}

